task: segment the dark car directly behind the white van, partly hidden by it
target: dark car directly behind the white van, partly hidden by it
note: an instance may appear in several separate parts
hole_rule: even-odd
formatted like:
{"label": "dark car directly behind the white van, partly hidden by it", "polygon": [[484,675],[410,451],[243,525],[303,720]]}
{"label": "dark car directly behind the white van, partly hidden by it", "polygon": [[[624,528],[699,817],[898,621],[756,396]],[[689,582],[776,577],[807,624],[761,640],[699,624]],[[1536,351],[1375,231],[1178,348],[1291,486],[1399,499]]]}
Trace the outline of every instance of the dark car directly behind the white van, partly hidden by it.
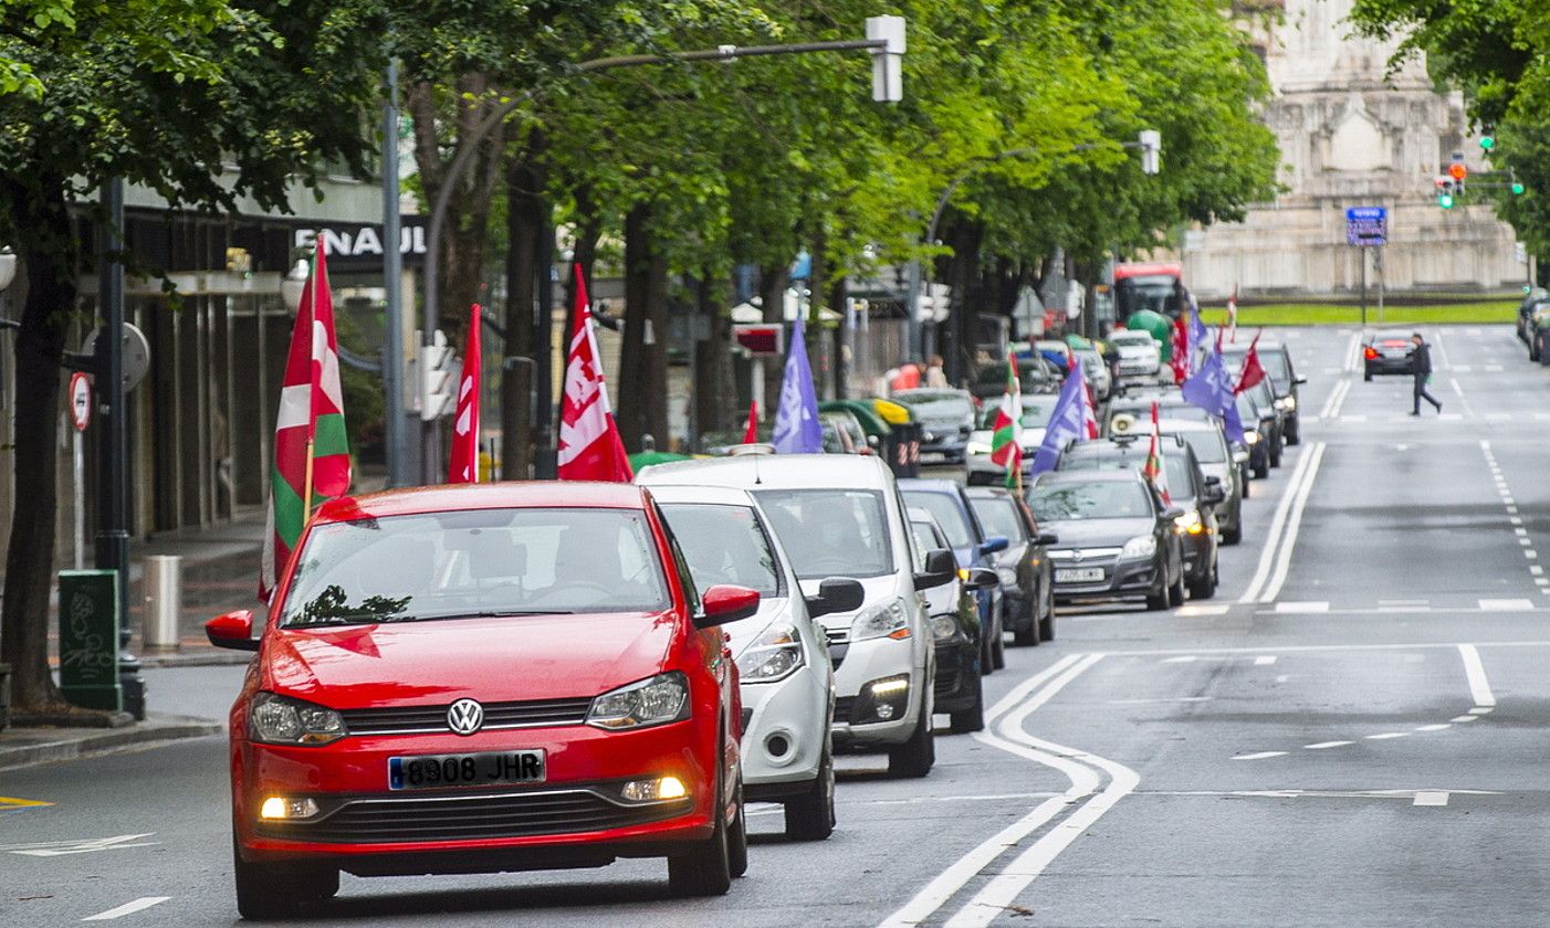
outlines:
{"label": "dark car directly behind the white van, partly hidden by it", "polygon": [[[919,507],[905,510],[910,521],[910,531],[914,536],[916,570],[925,570],[924,552],[938,552],[946,547],[947,536],[942,534],[936,517]],[[953,731],[980,731],[984,728],[984,685],[981,677],[986,666],[981,663],[984,651],[984,627],[980,624],[980,610],[975,606],[973,587],[995,586],[995,572],[976,567],[967,581],[953,579],[924,590],[925,604],[932,617],[932,638],[936,657],[935,697],[936,711],[947,713],[953,720]]]}

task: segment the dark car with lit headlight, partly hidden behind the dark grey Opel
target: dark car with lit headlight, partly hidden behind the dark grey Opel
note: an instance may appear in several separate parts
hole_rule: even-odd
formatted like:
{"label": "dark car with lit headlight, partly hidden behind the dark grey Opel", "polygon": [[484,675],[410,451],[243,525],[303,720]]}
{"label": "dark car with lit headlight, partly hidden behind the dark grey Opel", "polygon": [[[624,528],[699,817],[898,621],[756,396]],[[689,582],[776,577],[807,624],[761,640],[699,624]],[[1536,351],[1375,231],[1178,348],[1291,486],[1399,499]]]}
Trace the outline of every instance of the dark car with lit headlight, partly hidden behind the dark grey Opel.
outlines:
{"label": "dark car with lit headlight, partly hidden behind the dark grey Opel", "polygon": [[[1203,426],[1201,426],[1203,428]],[[1218,438],[1220,442],[1220,438]],[[1141,471],[1147,463],[1150,442],[1141,437],[1070,445],[1056,463],[1060,471]],[[1226,500],[1221,480],[1206,477],[1195,460],[1195,451],[1181,435],[1162,435],[1158,454],[1169,502],[1183,514],[1173,519],[1184,555],[1184,583],[1197,600],[1217,595],[1217,548],[1221,525],[1217,507]]]}

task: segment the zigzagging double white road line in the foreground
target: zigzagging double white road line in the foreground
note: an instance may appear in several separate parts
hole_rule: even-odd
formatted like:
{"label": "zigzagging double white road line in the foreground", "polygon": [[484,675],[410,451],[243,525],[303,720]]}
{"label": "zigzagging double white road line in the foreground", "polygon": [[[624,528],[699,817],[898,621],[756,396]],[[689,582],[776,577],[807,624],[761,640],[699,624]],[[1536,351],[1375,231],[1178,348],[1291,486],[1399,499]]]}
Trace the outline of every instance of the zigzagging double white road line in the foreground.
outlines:
{"label": "zigzagging double white road line in the foreground", "polygon": [[[1049,702],[1066,683],[1102,660],[1102,654],[1068,654],[1054,666],[1029,677],[1012,693],[990,706],[989,730],[973,737],[1018,758],[1052,767],[1065,773],[1071,787],[1035,806],[1028,815],[1001,829],[952,866],[936,875],[899,911],[884,919],[879,928],[919,925],[947,905],[970,880],[981,875],[1009,847],[1068,812],[1063,821],[1045,832],[1018,854],[984,888],[949,919],[949,928],[978,928],[1003,914],[1006,906],[1032,883],[1083,830],[1093,826],[1114,803],[1136,789],[1141,778],[1135,770],[1114,761],[1052,744],[1028,734],[1023,722],[1038,706]],[[1104,785],[1104,781],[1108,781]],[[1080,804],[1080,806],[1077,806]]]}

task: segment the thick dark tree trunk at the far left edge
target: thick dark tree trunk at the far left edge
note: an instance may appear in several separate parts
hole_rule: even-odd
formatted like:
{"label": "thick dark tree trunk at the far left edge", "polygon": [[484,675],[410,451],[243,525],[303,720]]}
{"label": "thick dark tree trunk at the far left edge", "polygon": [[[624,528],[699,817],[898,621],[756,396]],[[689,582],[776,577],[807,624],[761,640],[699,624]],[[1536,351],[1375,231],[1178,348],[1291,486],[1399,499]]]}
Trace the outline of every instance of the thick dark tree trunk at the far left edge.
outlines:
{"label": "thick dark tree trunk at the far left edge", "polygon": [[[45,203],[6,184],[12,215],[29,217],[22,271],[26,302],[16,336],[16,448],[11,460],[19,505],[11,516],[6,555],[0,660],[11,665],[11,700],[17,711],[70,711],[48,671],[48,593],[54,572],[56,465],[59,449],[59,361],[76,304],[76,256],[57,184],[43,184]],[[31,245],[29,245],[31,243]]]}

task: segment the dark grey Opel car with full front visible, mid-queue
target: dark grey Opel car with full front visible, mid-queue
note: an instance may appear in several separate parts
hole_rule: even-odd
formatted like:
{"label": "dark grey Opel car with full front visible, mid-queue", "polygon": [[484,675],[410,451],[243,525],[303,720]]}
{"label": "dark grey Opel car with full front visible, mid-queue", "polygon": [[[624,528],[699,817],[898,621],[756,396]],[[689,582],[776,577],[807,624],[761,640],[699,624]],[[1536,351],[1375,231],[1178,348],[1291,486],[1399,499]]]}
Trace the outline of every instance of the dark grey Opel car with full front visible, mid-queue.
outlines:
{"label": "dark grey Opel car with full front visible, mid-queue", "polygon": [[1136,471],[1048,471],[1028,488],[1028,508],[1060,541],[1049,548],[1056,601],[1184,603],[1184,545],[1173,519]]}

